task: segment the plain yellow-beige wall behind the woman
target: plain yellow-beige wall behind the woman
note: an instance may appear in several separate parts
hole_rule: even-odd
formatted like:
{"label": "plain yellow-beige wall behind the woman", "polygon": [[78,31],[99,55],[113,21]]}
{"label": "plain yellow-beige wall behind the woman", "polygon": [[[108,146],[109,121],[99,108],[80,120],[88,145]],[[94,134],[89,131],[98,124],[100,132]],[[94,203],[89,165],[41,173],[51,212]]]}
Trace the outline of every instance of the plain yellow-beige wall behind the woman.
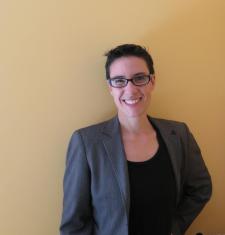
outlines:
{"label": "plain yellow-beige wall behind the woman", "polygon": [[68,140],[113,115],[102,54],[119,43],[150,48],[149,112],[187,122],[212,174],[187,234],[225,234],[224,23],[224,0],[0,0],[0,234],[57,234]]}

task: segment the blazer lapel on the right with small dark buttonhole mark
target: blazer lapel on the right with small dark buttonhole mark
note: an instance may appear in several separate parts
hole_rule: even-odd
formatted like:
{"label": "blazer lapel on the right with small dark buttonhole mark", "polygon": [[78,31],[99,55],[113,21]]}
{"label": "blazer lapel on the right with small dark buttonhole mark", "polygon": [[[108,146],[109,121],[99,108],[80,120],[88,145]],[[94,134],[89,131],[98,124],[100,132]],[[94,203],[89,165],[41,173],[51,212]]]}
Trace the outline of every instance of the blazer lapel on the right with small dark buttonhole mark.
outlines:
{"label": "blazer lapel on the right with small dark buttonhole mark", "polygon": [[181,145],[179,137],[177,136],[176,130],[174,130],[171,126],[167,125],[166,123],[160,121],[160,119],[149,118],[149,120],[153,123],[153,125],[157,127],[167,146],[167,150],[170,155],[170,160],[176,181],[176,189],[177,189],[176,203],[178,203],[179,194],[180,194],[180,181],[181,181],[180,178]]}

